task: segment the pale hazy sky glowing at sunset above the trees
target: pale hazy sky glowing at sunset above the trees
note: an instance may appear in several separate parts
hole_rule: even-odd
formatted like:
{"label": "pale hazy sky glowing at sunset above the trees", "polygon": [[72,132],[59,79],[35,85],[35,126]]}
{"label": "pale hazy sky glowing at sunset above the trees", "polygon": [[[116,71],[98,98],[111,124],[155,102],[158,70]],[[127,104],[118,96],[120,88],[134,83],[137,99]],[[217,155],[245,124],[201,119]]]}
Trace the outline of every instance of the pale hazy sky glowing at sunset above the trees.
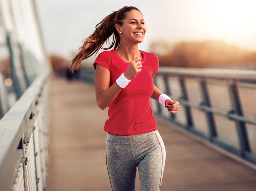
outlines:
{"label": "pale hazy sky glowing at sunset above the trees", "polygon": [[225,40],[256,51],[256,0],[35,0],[46,53],[67,59],[105,16],[123,6],[137,7],[151,41]]}

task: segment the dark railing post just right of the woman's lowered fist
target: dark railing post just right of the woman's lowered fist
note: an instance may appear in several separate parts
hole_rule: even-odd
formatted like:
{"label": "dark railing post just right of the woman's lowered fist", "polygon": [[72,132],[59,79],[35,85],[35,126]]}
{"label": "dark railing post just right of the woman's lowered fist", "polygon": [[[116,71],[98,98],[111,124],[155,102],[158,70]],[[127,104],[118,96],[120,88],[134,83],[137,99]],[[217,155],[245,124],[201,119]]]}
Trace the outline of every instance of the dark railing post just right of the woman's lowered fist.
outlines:
{"label": "dark railing post just right of the woman's lowered fist", "polygon": [[[188,101],[188,97],[187,97],[187,91],[186,91],[186,87],[184,84],[184,78],[182,76],[179,75],[179,82],[180,82],[180,88],[182,91],[182,99],[185,101]],[[191,112],[190,112],[190,106],[185,106],[185,110],[186,110],[186,116],[187,116],[187,129],[190,129],[193,127],[193,122],[192,122],[192,118],[191,118]]]}

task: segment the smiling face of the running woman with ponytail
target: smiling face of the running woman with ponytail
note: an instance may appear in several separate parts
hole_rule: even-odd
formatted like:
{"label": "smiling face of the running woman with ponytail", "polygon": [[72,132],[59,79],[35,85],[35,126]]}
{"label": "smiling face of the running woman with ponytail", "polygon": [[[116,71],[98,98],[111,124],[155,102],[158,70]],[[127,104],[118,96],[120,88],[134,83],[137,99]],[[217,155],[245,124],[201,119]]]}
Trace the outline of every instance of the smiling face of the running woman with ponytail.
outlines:
{"label": "smiling face of the running woman with ponytail", "polygon": [[[126,19],[123,20],[123,25],[116,24],[116,29],[119,33],[121,42],[129,41],[140,43],[143,41],[147,28],[141,12],[132,10],[126,13]],[[120,34],[120,31],[122,34]],[[139,34],[135,34],[139,32]],[[141,34],[142,33],[142,34]]]}

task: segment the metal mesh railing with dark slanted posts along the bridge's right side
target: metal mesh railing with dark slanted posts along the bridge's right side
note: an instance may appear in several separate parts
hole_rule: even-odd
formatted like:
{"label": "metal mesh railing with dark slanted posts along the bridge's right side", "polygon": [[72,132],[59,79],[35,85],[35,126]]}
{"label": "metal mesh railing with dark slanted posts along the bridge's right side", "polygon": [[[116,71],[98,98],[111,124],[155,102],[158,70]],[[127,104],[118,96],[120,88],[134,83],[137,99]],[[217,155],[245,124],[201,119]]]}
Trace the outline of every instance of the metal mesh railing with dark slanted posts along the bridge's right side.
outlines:
{"label": "metal mesh railing with dark slanted posts along the bridge's right side", "polygon": [[256,164],[256,71],[160,67],[154,84],[180,102],[171,114],[150,98],[156,115]]}

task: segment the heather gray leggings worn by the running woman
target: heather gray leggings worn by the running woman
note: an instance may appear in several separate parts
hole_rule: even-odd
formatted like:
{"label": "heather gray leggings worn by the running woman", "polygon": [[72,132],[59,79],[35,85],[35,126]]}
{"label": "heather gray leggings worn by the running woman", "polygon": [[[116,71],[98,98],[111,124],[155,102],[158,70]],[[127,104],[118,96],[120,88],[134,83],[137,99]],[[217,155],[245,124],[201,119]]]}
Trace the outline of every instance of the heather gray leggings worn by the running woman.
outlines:
{"label": "heather gray leggings worn by the running woman", "polygon": [[112,191],[135,191],[137,166],[141,191],[160,191],[166,153],[158,130],[129,136],[108,133],[106,145]]}

